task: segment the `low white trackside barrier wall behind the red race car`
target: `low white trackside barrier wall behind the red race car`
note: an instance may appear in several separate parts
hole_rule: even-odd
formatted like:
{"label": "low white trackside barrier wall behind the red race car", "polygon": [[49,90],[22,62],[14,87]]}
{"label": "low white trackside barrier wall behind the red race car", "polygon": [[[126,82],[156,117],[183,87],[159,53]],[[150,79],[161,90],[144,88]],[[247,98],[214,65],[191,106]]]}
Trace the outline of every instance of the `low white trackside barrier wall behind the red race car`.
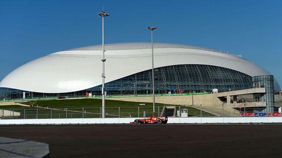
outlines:
{"label": "low white trackside barrier wall behind the red race car", "polygon": [[[2,119],[0,124],[113,124],[137,118]],[[282,117],[169,117],[168,123],[282,123]]]}

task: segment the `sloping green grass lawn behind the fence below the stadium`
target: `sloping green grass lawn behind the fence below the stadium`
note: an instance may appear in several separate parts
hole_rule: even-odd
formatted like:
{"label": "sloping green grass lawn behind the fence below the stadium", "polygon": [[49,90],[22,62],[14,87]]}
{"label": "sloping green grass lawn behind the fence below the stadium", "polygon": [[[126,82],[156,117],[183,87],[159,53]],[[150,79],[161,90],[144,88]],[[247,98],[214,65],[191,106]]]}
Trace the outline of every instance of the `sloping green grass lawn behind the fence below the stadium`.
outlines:
{"label": "sloping green grass lawn behind the fence below the stadium", "polygon": [[[146,117],[153,113],[153,103],[130,102],[118,100],[105,100],[105,117],[143,117],[144,111]],[[23,107],[10,105],[2,109],[14,110],[20,112],[20,116],[14,116],[15,119],[23,118],[99,118],[102,111],[102,99],[61,99],[61,100],[35,100],[28,101],[25,104],[32,107]],[[139,105],[146,104],[146,105]],[[37,107],[37,105],[39,107]],[[160,115],[165,104],[155,104],[155,115]],[[42,108],[44,107],[44,108]],[[200,110],[193,107],[180,108],[188,109],[188,116],[200,115]],[[179,106],[177,105],[177,110]],[[204,116],[212,114],[202,111]],[[10,117],[9,117],[10,118]]]}

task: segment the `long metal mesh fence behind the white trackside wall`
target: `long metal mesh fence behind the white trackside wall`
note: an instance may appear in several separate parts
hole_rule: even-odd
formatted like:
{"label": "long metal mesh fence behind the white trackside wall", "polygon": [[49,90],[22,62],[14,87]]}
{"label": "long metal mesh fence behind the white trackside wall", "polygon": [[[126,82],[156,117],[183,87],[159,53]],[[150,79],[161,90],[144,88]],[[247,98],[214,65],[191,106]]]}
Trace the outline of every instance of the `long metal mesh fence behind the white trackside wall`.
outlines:
{"label": "long metal mesh fence behind the white trackside wall", "polygon": [[[281,116],[281,107],[234,107],[231,105],[161,105],[155,106],[111,106],[105,107],[105,117],[273,117]],[[21,107],[3,108],[0,110],[2,119],[39,119],[39,118],[101,118],[102,107]]]}

